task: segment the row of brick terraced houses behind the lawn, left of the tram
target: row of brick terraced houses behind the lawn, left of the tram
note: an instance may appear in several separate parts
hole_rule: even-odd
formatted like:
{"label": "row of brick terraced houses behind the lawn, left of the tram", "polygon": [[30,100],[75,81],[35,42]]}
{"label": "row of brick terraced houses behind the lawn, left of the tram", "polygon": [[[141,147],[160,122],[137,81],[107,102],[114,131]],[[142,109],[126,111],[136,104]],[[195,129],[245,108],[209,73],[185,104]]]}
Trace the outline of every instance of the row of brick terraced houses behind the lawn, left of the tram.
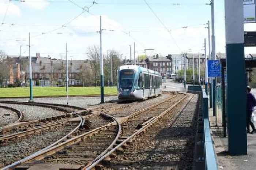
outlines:
{"label": "row of brick terraced houses behind the lawn, left of the tram", "polygon": [[[29,84],[29,57],[7,56],[12,60],[9,69],[8,84],[14,84],[21,81],[22,73],[24,77],[22,83]],[[51,57],[41,57],[40,53],[31,57],[32,59],[32,80],[33,85],[39,86],[56,86],[64,85],[66,81],[66,61],[57,60]],[[27,62],[24,62],[27,61]],[[16,63],[16,64],[14,64]],[[20,64],[23,63],[23,70]],[[90,69],[88,60],[68,60],[69,85],[82,85],[82,77],[86,76],[82,72],[82,68]]]}

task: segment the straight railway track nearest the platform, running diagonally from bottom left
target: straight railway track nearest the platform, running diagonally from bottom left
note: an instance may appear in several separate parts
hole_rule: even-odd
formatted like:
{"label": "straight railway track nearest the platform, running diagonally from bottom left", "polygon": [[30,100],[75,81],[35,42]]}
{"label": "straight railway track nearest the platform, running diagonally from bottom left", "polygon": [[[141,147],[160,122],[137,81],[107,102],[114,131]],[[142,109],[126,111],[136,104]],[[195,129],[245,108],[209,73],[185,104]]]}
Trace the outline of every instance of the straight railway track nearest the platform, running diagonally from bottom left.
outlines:
{"label": "straight railway track nearest the platform, running diagonally from bottom left", "polygon": [[[123,120],[120,120],[120,122],[122,122],[121,136],[119,136],[120,125],[118,125],[117,120],[110,115],[101,114],[101,116],[104,115],[107,118],[111,117],[111,119],[116,122],[111,122],[100,127],[95,126],[94,128],[88,129],[88,132],[86,133],[76,135],[76,137],[66,140],[63,143],[41,150],[37,152],[37,154],[30,155],[5,167],[3,170],[11,169],[19,165],[33,166],[33,163],[35,162],[54,163],[58,168],[61,168],[61,164],[62,166],[65,164],[65,167],[62,168],[72,166],[73,168],[76,167],[78,169],[82,167],[90,169],[90,166],[97,165],[102,159],[109,159],[106,158],[106,153],[108,151],[112,151],[113,147],[114,151],[123,150],[122,147],[124,143],[129,143],[129,141],[131,141],[135,136],[150,127],[155,121],[159,120],[159,118],[161,118],[167,111],[173,109],[186,97],[186,94],[175,94],[155,105],[149,106],[125,117]],[[112,105],[112,109],[116,108],[113,108]],[[111,113],[110,110],[111,108],[109,109],[109,113]],[[105,112],[108,112],[108,110],[105,110]],[[95,114],[88,117],[91,116],[94,117]],[[133,125],[132,122],[134,122]],[[97,123],[95,125],[97,125]],[[128,126],[131,126],[131,128]],[[122,143],[121,146],[120,142]],[[111,154],[113,154],[113,152],[111,152]],[[54,169],[54,167],[52,168]]]}

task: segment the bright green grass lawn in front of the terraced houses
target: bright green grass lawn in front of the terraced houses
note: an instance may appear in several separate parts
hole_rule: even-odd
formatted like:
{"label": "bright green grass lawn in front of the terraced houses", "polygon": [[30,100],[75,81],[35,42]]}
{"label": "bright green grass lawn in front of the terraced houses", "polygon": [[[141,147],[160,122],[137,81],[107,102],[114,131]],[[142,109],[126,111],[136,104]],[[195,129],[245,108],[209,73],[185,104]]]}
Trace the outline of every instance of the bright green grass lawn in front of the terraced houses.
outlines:
{"label": "bright green grass lawn in front of the terraced houses", "polygon": [[[97,95],[100,87],[69,87],[68,95]],[[116,86],[105,87],[104,94],[117,94]],[[1,97],[29,97],[29,87],[0,88]],[[66,95],[66,87],[33,87],[33,96]]]}

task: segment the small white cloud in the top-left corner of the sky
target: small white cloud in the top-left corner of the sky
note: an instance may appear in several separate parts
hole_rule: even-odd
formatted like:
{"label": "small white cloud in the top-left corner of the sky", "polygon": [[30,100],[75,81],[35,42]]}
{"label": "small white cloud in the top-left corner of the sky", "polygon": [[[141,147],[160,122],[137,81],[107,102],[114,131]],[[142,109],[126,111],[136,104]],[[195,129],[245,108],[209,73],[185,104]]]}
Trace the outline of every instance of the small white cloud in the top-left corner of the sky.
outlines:
{"label": "small white cloud in the top-left corner of the sky", "polygon": [[[9,4],[9,0],[3,0],[0,2],[0,16],[4,16],[5,11],[8,7]],[[20,16],[20,9],[18,6],[16,6],[13,3],[10,3],[9,8],[8,8],[8,12],[7,12],[7,16],[8,15],[14,15],[14,16]]]}

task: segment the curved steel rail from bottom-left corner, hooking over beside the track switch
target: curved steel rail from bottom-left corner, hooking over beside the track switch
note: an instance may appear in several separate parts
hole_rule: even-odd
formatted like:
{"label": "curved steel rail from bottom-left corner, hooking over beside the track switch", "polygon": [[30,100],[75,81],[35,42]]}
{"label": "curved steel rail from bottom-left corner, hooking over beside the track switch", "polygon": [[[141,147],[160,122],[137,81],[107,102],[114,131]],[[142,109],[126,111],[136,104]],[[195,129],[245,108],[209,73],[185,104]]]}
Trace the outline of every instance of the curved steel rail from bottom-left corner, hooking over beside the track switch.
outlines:
{"label": "curved steel rail from bottom-left corner, hooking over beside the track switch", "polygon": [[[79,116],[79,115],[78,115],[78,116]],[[31,158],[34,158],[35,156],[40,155],[40,154],[41,154],[42,152],[44,152],[45,150],[49,150],[49,148],[51,148],[51,147],[53,147],[53,146],[56,146],[58,143],[60,143],[61,141],[63,141],[64,139],[66,139],[68,136],[70,136],[72,133],[74,133],[74,132],[82,125],[83,118],[82,118],[81,116],[79,116],[79,117],[80,117],[80,123],[79,123],[79,125],[76,126],[76,128],[75,128],[73,131],[69,132],[66,136],[64,136],[64,137],[62,137],[61,139],[57,140],[56,142],[50,144],[49,146],[43,148],[42,150],[39,150],[39,151],[35,152],[34,154],[32,154],[32,155],[30,155],[30,156],[27,156],[27,157],[25,157],[25,158],[23,158],[23,159],[21,159],[21,160],[19,160],[19,161],[17,161],[17,162],[14,162],[14,163],[12,163],[11,165],[8,165],[8,166],[4,167],[4,168],[1,169],[1,170],[10,170],[10,169],[14,169],[15,167],[21,165],[22,163],[25,163],[25,162],[31,160]]]}

